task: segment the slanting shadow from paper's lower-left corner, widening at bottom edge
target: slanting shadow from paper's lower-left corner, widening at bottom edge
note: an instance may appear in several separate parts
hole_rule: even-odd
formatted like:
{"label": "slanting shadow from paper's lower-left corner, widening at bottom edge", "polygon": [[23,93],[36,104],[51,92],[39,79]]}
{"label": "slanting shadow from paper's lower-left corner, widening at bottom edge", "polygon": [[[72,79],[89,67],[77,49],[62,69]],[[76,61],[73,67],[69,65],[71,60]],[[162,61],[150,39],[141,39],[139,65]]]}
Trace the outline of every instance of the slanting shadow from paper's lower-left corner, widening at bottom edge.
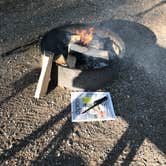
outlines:
{"label": "slanting shadow from paper's lower-left corner, widening at bottom edge", "polygon": [[62,153],[59,157],[55,156],[55,153],[59,150],[62,143],[68,139],[68,136],[73,132],[75,126],[76,123],[72,123],[71,118],[68,118],[58,131],[58,134],[51,140],[47,147],[42,150],[38,157],[31,162],[31,165],[86,165],[83,158],[76,154],[66,155]]}

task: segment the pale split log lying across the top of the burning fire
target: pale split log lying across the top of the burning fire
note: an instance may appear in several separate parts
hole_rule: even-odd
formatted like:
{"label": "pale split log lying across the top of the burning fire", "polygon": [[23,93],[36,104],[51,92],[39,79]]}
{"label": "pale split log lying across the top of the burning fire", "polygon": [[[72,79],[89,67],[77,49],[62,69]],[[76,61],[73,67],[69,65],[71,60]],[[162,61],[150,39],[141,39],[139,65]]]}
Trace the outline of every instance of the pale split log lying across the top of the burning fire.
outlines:
{"label": "pale split log lying across the top of the burning fire", "polygon": [[103,58],[109,60],[109,53],[106,50],[98,50],[92,47],[84,47],[74,43],[69,44],[69,52],[78,52],[94,58]]}

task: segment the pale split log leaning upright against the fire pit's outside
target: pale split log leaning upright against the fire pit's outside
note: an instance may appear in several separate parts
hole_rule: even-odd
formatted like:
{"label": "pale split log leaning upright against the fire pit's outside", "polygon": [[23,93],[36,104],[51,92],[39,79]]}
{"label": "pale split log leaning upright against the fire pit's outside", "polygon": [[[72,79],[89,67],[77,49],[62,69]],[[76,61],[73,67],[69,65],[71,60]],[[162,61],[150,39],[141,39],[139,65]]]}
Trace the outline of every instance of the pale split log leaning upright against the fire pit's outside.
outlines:
{"label": "pale split log leaning upright against the fire pit's outside", "polygon": [[34,96],[35,98],[45,96],[45,94],[47,93],[48,84],[50,82],[53,56],[53,54],[50,55],[48,53],[44,53],[42,56],[43,64]]}

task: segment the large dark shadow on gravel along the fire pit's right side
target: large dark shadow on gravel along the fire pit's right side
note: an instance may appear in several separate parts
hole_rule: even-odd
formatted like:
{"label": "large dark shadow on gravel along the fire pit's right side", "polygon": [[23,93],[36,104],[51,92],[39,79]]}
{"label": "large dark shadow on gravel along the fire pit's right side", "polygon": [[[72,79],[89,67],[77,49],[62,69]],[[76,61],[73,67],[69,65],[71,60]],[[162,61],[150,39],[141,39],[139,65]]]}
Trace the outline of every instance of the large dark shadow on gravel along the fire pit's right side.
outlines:
{"label": "large dark shadow on gravel along the fire pit's right side", "polygon": [[146,138],[166,153],[166,50],[156,44],[155,34],[143,25],[122,20],[102,25],[118,33],[126,45],[120,77],[111,93],[118,114],[129,124],[102,165],[113,165],[127,144],[130,152],[122,165],[129,165]]}

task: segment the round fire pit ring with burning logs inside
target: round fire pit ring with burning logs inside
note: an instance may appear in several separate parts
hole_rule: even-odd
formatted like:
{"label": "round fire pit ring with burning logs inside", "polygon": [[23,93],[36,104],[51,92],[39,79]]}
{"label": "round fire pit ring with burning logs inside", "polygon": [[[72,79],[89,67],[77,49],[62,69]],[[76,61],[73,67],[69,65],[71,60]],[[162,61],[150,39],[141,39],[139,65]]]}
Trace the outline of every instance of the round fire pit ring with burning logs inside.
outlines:
{"label": "round fire pit ring with burning logs inside", "polygon": [[[52,60],[58,65],[58,86],[72,90],[94,90],[110,82],[117,73],[116,62],[124,56],[125,46],[121,38],[109,29],[70,25],[48,32],[41,41],[41,51],[47,61],[43,59],[45,67],[42,66],[47,75],[51,71],[47,66],[52,65]],[[35,94],[37,98],[41,96],[39,91],[46,81],[46,74],[41,72],[41,75],[43,79],[39,79]]]}

